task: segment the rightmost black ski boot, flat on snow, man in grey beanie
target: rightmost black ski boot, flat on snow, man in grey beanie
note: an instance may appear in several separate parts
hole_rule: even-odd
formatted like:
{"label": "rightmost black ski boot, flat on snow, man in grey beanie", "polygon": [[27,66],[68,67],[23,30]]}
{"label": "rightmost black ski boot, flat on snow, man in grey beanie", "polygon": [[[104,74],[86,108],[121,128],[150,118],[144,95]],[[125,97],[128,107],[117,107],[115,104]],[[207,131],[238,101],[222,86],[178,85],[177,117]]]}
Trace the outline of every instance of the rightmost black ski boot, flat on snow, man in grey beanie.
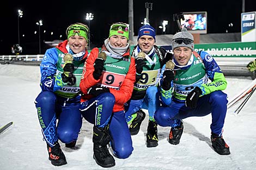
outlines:
{"label": "rightmost black ski boot, flat on snow, man in grey beanie", "polygon": [[212,147],[214,148],[215,152],[217,152],[220,155],[229,155],[229,146],[224,141],[223,137],[219,137],[216,134],[211,134],[211,143]]}

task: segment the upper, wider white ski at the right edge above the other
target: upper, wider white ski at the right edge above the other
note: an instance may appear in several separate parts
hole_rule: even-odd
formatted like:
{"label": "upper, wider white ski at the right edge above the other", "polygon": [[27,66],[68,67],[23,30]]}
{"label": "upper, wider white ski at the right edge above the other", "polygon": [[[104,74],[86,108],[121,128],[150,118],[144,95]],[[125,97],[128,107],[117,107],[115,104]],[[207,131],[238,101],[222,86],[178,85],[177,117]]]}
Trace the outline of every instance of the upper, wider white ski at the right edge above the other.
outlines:
{"label": "upper, wider white ski at the right edge above the other", "polygon": [[240,93],[237,93],[237,95],[235,95],[231,100],[229,100],[227,107],[230,108],[231,106],[233,106],[237,101],[239,101],[240,99],[242,99],[243,97],[245,97],[247,94],[249,94],[250,92],[252,92],[252,90],[254,89],[254,87],[256,87],[256,79],[254,79],[252,81],[251,84],[249,84],[248,86],[245,87],[245,89],[241,90]]}

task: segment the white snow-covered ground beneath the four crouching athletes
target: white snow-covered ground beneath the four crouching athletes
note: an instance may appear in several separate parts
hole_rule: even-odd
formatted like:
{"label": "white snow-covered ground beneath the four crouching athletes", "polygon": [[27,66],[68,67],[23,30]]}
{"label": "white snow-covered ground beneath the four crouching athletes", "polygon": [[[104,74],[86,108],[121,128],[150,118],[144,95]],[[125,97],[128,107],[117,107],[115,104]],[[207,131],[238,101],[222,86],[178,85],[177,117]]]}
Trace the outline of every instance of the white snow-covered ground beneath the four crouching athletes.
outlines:
{"label": "white snow-covered ground beneath the four crouching athletes", "polygon": [[[0,135],[0,169],[105,169],[93,159],[93,125],[85,120],[75,149],[65,148],[60,142],[68,164],[51,165],[34,105],[40,92],[38,66],[0,65],[0,80],[0,126],[14,121],[13,127]],[[229,98],[252,81],[249,78],[227,80],[225,92]],[[184,119],[184,133],[177,146],[167,141],[170,128],[158,127],[159,146],[155,148],[145,145],[146,117],[138,135],[132,136],[132,155],[127,159],[115,158],[116,165],[108,169],[255,169],[255,94],[239,115],[233,114],[238,104],[227,112],[223,137],[230,146],[230,155],[218,155],[212,149],[210,115]]]}

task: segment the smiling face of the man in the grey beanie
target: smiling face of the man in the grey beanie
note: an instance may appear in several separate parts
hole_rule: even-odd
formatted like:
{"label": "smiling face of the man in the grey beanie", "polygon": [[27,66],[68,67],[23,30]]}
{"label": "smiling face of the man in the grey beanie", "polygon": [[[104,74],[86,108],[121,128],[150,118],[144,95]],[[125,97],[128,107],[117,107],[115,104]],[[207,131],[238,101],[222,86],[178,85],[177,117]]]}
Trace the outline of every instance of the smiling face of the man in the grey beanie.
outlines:
{"label": "smiling face of the man in the grey beanie", "polygon": [[188,47],[176,47],[173,50],[174,58],[180,66],[187,65],[190,61],[192,50]]}

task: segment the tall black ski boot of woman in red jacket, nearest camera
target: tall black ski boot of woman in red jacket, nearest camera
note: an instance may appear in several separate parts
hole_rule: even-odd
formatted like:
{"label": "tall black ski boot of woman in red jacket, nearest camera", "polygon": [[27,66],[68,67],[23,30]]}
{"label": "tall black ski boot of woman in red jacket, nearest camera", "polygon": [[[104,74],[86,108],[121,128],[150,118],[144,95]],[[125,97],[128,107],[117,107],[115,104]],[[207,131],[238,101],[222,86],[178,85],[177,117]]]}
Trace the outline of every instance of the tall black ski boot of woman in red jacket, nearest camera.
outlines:
{"label": "tall black ski boot of woman in red jacket, nearest camera", "polygon": [[107,144],[110,141],[108,135],[108,127],[99,128],[94,125],[93,127],[93,158],[97,165],[104,168],[115,166],[115,160],[109,154]]}

